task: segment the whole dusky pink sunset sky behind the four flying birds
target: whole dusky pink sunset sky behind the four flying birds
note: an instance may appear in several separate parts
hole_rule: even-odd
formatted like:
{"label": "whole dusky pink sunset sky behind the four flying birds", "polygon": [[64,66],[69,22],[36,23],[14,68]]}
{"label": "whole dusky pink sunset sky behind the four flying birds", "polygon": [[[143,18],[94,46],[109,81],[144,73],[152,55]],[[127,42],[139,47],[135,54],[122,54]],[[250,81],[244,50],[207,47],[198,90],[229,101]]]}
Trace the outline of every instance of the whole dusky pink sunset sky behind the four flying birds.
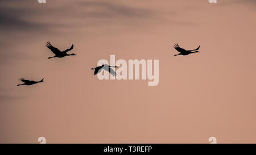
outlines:
{"label": "whole dusky pink sunset sky behind the four flying birds", "polygon": [[[256,1],[217,2],[0,1],[0,143],[256,143]],[[159,60],[159,84],[99,80],[110,55]]]}

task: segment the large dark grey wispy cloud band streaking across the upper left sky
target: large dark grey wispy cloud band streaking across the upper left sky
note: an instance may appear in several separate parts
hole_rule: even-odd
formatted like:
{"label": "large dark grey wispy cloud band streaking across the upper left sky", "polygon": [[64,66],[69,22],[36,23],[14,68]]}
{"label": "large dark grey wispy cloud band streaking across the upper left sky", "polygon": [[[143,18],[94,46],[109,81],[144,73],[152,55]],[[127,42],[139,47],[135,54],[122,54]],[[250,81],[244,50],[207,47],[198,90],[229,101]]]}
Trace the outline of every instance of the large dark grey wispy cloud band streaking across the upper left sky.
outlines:
{"label": "large dark grey wispy cloud band streaking across the upper left sky", "polygon": [[[179,14],[178,10],[175,11]],[[30,0],[0,1],[0,63],[28,57],[26,51],[15,49],[19,47],[20,39],[24,39],[24,36],[34,41],[39,37],[53,36],[53,33],[61,36],[77,28],[88,33],[92,29],[101,33],[112,30],[121,32],[123,27],[144,28],[161,23],[193,26],[189,21],[175,19],[175,11],[161,12],[152,6],[112,0],[56,0],[47,1],[46,4]],[[109,27],[115,29],[108,29]]]}

